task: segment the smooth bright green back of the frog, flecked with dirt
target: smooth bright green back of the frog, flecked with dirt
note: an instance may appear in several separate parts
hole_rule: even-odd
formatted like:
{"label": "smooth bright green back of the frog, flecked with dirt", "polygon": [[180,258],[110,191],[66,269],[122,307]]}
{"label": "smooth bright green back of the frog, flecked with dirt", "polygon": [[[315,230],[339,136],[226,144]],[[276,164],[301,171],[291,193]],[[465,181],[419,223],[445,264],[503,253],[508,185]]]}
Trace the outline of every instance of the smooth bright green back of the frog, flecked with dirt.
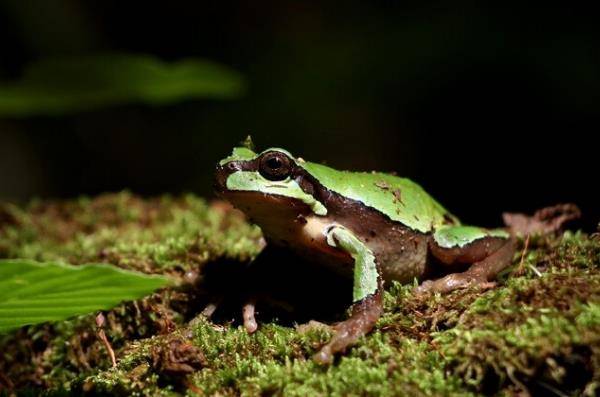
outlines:
{"label": "smooth bright green back of the frog, flecked with dirt", "polygon": [[413,230],[427,233],[458,219],[410,179],[369,172],[338,171],[311,162],[299,164],[325,188],[362,202]]}

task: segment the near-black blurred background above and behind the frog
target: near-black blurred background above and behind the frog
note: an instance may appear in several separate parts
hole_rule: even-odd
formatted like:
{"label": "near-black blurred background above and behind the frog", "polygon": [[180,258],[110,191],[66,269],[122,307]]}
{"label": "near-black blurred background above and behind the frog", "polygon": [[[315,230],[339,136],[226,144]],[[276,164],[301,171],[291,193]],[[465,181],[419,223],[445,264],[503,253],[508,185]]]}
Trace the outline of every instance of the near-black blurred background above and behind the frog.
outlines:
{"label": "near-black blurred background above and behind the frog", "polygon": [[258,149],[397,171],[467,222],[575,202],[593,230],[598,15],[523,7],[5,0],[2,79],[47,56],[123,51],[212,59],[247,89],[230,101],[0,120],[0,199],[210,196],[214,164],[251,133]]}

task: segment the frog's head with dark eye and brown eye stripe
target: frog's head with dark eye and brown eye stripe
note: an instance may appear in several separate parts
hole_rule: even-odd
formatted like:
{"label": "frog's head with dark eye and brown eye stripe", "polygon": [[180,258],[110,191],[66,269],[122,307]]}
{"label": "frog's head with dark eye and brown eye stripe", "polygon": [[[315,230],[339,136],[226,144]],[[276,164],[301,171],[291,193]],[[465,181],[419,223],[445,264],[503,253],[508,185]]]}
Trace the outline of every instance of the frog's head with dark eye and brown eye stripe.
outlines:
{"label": "frog's head with dark eye and brown eye stripe", "polygon": [[325,215],[327,209],[314,197],[315,186],[297,159],[284,149],[261,153],[236,147],[217,165],[217,194],[264,227],[299,215]]}

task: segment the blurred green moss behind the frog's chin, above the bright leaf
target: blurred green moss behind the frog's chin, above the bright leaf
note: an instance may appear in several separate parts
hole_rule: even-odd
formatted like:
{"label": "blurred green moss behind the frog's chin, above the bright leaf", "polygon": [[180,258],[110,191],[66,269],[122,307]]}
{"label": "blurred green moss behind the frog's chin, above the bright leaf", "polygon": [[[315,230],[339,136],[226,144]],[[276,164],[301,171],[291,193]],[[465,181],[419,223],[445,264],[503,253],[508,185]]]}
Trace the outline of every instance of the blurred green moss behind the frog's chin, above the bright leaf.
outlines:
{"label": "blurred green moss behind the frog's chin, above the bright leaf", "polygon": [[10,216],[0,233],[0,256],[110,262],[148,272],[189,270],[217,258],[248,260],[260,232],[222,204],[197,197],[141,200],[127,192],[96,199],[33,202]]}

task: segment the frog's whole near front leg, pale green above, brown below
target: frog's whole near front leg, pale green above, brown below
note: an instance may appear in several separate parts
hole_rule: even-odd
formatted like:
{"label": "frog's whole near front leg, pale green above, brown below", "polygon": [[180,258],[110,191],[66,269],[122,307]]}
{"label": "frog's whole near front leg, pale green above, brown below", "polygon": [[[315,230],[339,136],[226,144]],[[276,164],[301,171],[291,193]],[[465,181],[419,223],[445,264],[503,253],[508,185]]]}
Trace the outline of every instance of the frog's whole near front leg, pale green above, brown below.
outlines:
{"label": "frog's whole near front leg, pale green above, brown below", "polygon": [[331,363],[336,353],[344,351],[371,331],[383,312],[383,280],[373,252],[350,230],[341,226],[328,230],[327,243],[347,252],[354,259],[354,303],[350,317],[333,327],[335,334],[315,354],[315,361],[321,364]]}

